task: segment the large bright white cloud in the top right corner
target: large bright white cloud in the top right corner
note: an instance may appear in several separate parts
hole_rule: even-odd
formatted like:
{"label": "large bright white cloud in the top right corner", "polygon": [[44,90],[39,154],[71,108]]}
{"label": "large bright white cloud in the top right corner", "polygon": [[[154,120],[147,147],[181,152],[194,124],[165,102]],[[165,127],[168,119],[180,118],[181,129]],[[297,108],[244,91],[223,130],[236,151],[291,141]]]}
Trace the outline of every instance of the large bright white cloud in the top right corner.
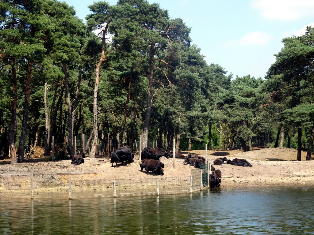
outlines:
{"label": "large bright white cloud in the top right corner", "polygon": [[313,14],[313,0],[254,0],[252,8],[266,19],[295,20]]}

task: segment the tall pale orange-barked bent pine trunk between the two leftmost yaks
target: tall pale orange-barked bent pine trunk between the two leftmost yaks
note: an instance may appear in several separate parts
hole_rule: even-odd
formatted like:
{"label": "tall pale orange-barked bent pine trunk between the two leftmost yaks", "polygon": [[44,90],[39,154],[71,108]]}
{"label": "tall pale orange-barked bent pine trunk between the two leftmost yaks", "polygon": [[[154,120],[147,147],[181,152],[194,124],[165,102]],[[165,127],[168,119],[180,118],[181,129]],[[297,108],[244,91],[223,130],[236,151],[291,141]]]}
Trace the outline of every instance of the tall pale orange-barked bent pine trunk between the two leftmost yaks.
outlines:
{"label": "tall pale orange-barked bent pine trunk between the two leftmost yaks", "polygon": [[105,29],[102,31],[102,48],[101,48],[101,57],[99,63],[96,65],[95,71],[95,87],[94,87],[94,96],[93,96],[93,116],[94,116],[94,124],[93,124],[93,132],[94,138],[92,147],[90,149],[89,157],[95,158],[96,148],[97,148],[97,140],[98,140],[98,121],[97,121],[97,92],[99,86],[99,72],[102,63],[106,60],[106,33],[109,26],[110,21],[106,22]]}

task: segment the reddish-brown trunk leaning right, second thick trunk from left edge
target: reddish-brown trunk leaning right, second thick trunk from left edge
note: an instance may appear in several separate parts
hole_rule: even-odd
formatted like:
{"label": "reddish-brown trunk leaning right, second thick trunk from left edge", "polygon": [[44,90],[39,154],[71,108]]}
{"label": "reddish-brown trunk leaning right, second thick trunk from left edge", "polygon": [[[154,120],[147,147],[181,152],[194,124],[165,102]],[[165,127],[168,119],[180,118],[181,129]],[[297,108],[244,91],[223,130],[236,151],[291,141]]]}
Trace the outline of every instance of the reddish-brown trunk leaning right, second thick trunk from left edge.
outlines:
{"label": "reddish-brown trunk leaning right, second thick trunk from left edge", "polygon": [[26,130],[27,130],[27,120],[28,120],[28,109],[30,105],[30,81],[32,74],[32,63],[29,61],[27,65],[26,74],[26,87],[25,87],[25,103],[23,111],[23,121],[22,121],[22,132],[19,141],[19,157],[18,163],[24,162],[24,145],[26,141]]}

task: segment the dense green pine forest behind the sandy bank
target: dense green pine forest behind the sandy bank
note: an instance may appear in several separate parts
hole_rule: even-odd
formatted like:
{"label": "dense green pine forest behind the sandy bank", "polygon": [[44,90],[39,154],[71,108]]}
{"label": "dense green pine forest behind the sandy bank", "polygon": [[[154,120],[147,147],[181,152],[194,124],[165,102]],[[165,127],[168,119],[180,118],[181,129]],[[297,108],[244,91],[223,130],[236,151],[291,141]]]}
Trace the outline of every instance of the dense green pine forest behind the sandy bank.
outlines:
{"label": "dense green pine forest behind the sandy bank", "polygon": [[142,135],[142,147],[287,147],[310,160],[314,28],[284,38],[264,78],[233,77],[157,3],[89,10],[85,24],[64,2],[0,2],[0,155],[11,163],[30,146],[50,155],[52,139],[72,157],[78,135],[89,137],[89,157],[108,135],[110,151]]}

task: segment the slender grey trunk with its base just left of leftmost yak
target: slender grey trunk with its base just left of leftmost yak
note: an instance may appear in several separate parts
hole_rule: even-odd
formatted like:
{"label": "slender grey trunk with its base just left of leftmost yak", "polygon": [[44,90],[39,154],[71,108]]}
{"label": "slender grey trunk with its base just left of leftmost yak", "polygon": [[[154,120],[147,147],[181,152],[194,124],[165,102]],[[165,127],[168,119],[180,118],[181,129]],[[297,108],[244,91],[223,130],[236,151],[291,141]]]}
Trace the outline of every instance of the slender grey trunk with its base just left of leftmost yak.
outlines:
{"label": "slender grey trunk with its base just left of leftmost yak", "polygon": [[74,157],[72,109],[71,109],[71,101],[70,101],[68,71],[67,71],[67,67],[66,67],[65,63],[63,63],[63,73],[64,73],[65,90],[66,90],[66,93],[67,93],[67,104],[68,104],[69,154],[70,154],[70,158],[72,159]]}

